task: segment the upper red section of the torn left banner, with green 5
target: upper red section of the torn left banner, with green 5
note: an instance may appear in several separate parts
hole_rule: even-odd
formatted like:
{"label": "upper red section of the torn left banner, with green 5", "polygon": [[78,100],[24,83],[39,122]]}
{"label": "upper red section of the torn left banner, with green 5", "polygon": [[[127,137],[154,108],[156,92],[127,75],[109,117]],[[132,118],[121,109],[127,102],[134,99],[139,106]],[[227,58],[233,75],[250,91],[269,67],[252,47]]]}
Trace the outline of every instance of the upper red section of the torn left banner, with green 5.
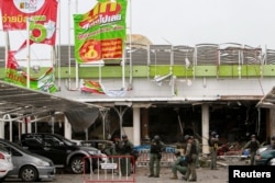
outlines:
{"label": "upper red section of the torn left banner, with green 5", "polygon": [[55,44],[57,0],[1,0],[3,31],[26,30],[29,19],[30,41]]}

